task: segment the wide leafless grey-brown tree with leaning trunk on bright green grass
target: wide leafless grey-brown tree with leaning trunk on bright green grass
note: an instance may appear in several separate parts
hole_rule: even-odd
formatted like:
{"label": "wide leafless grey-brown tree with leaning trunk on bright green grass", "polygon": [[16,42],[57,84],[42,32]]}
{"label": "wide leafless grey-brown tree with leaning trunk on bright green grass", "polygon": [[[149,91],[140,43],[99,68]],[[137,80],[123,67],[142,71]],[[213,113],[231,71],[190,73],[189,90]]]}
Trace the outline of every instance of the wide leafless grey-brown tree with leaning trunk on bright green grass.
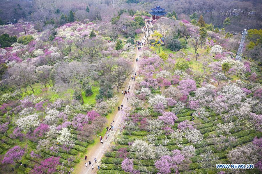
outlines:
{"label": "wide leafless grey-brown tree with leaning trunk on bright green grass", "polygon": [[56,83],[66,89],[73,89],[84,103],[82,91],[85,88],[84,82],[88,80],[90,73],[91,70],[87,62],[62,63],[57,69]]}

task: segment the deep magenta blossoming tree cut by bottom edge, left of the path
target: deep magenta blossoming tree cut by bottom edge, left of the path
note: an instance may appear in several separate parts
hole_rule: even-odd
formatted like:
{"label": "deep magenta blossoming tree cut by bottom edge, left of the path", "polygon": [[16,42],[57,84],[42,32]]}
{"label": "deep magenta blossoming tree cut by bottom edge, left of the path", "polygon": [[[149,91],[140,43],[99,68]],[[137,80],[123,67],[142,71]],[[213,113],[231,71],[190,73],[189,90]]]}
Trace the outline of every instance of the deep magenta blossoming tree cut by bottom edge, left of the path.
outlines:
{"label": "deep magenta blossoming tree cut by bottom edge, left of the path", "polygon": [[31,170],[32,174],[52,174],[56,172],[56,167],[60,164],[59,162],[60,157],[50,157],[43,161],[41,161],[41,164],[36,164]]}

